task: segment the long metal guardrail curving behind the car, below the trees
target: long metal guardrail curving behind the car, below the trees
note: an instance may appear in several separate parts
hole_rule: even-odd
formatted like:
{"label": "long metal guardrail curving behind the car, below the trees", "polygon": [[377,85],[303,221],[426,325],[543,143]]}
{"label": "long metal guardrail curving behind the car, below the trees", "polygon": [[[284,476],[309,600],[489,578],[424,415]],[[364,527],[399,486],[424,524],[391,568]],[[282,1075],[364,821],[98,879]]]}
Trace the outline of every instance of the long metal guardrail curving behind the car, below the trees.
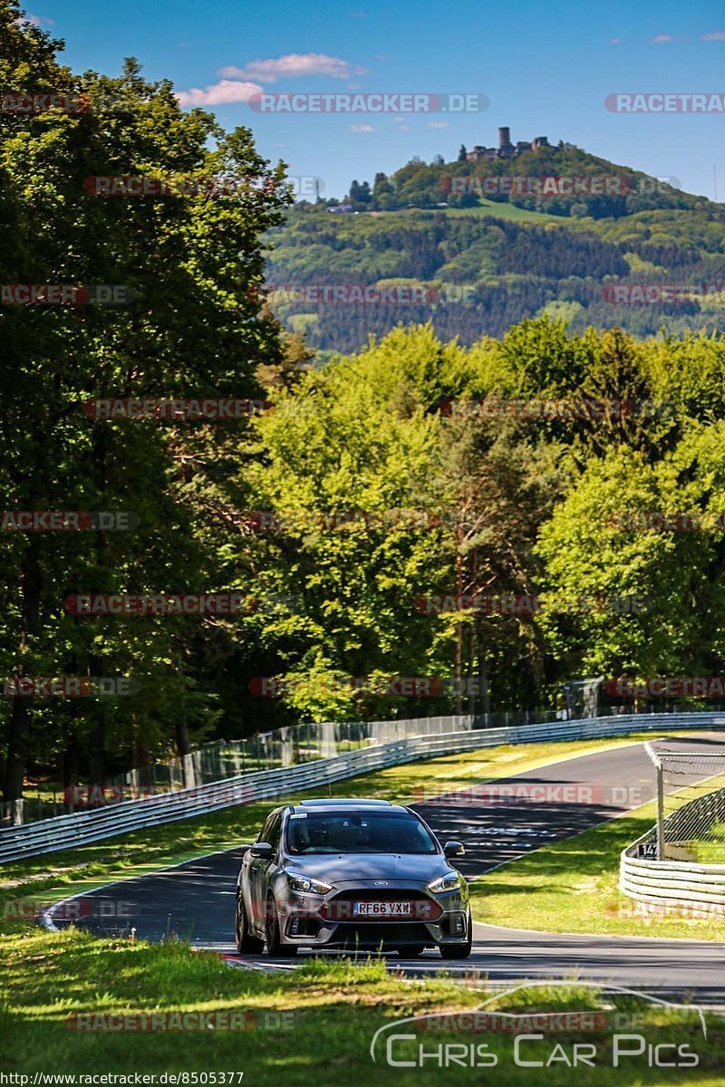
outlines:
{"label": "long metal guardrail curving behind the car, below the trees", "polygon": [[533,744],[536,740],[597,739],[625,736],[628,733],[672,732],[682,728],[713,728],[725,725],[720,712],[622,714],[616,717],[589,717],[557,724],[522,725],[512,728],[480,728],[473,732],[417,736],[349,751],[332,759],[259,771],[192,789],[179,789],[163,796],[111,804],[97,811],[59,815],[23,826],[0,830],[0,864],[91,845],[130,830],[191,819],[233,804],[252,803],[298,790],[341,782],[373,770],[402,765],[437,755],[475,751],[505,744]]}

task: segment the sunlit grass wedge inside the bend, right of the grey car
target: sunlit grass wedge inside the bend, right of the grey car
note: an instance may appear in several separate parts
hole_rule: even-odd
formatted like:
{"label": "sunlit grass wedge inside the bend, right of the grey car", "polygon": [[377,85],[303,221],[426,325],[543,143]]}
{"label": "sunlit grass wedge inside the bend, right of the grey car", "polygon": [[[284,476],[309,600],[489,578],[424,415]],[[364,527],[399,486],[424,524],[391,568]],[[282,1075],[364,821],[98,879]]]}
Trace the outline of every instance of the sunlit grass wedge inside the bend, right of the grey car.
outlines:
{"label": "sunlit grass wedge inside the bend, right of the grey car", "polygon": [[476,921],[553,933],[725,940],[725,917],[637,910],[618,890],[620,853],[649,830],[654,802],[545,846],[471,884]]}

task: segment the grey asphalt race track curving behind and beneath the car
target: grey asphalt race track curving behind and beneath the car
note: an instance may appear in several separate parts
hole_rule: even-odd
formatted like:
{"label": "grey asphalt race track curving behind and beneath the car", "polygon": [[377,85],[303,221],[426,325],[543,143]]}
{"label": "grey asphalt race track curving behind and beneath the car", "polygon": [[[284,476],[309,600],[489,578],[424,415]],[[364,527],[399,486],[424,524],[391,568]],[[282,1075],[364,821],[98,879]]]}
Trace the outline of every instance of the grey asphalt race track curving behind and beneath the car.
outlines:
{"label": "grey asphalt race track curving behind and beneath the car", "polygon": [[[725,750],[725,735],[667,736],[657,746]],[[653,795],[653,767],[640,744],[566,759],[499,780],[501,786],[537,787],[534,796],[545,795],[549,802],[491,802],[474,791],[461,798],[464,803],[441,798],[414,805],[441,841],[458,838],[464,842],[466,854],[458,866],[468,877],[615,817]],[[236,952],[234,900],[242,853],[243,847],[212,853],[86,892],[79,910],[73,909],[72,901],[61,903],[49,920],[57,927],[73,923],[103,935],[128,933],[132,927],[138,938],[150,940],[176,935],[196,947],[224,953],[237,966],[293,970],[300,958],[242,958]],[[301,958],[304,954],[301,952]],[[416,976],[443,971],[461,976],[480,972],[492,982],[576,976],[632,988],[645,986],[650,991],[689,994],[699,1002],[725,1005],[723,946],[717,942],[559,935],[476,924],[473,953],[461,963],[442,962],[434,950],[415,960],[391,954],[389,962],[391,969],[402,967]]]}

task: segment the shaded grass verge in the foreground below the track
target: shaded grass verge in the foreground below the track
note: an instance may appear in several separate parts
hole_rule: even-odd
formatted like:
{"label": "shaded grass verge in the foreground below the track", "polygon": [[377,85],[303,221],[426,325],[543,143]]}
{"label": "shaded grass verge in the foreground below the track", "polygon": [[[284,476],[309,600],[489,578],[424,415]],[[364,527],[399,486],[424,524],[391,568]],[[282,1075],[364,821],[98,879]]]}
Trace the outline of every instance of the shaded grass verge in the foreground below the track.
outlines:
{"label": "shaded grass verge in the foreground below the track", "polygon": [[[207,953],[191,953],[183,944],[157,946],[127,940],[97,940],[73,929],[47,934],[26,929],[21,937],[0,936],[3,962],[3,999],[0,1005],[0,1069],[30,1077],[40,1073],[193,1073],[227,1077],[226,1085],[241,1082],[258,1087],[367,1087],[371,1076],[376,1084],[418,1087],[420,1084],[479,1085],[497,1074],[505,1076],[510,1087],[529,1087],[546,1082],[551,1087],[571,1084],[574,1042],[595,1047],[593,1065],[577,1067],[582,1087],[621,1087],[623,1084],[678,1085],[722,1084],[718,1069],[725,1059],[725,1022],[708,1015],[708,1038],[692,1013],[664,1013],[648,1010],[632,998],[613,1002],[607,998],[609,1013],[597,1028],[562,1034],[545,1034],[539,1041],[526,1041],[520,1059],[552,1063],[546,1072],[516,1065],[511,1032],[436,1033],[416,1030],[410,1024],[389,1033],[414,1034],[412,1040],[398,1040],[391,1047],[396,1061],[413,1061],[413,1066],[391,1066],[386,1060],[386,1034],[377,1044],[373,1062],[370,1047],[379,1027],[396,1020],[430,1012],[472,1009],[485,994],[454,986],[450,982],[402,982],[388,976],[383,964],[371,962],[351,965],[345,961],[313,961],[290,975],[260,974],[228,969]],[[509,996],[498,1005],[510,1012],[588,1011],[602,1007],[591,990],[557,987]],[[649,1042],[675,1042],[698,1054],[697,1067],[648,1067],[647,1052],[624,1060],[613,1067],[613,1011],[622,1016],[645,1015],[637,1032]],[[202,1029],[170,1033],[166,1030],[100,1030],[97,1016],[139,1013],[228,1013],[240,1020],[245,1029]],[[85,1025],[95,1029],[78,1030],[68,1026],[76,1015],[90,1016]],[[626,1020],[625,1022],[628,1022]],[[83,1023],[84,1021],[82,1021]],[[108,1022],[108,1021],[107,1021]],[[138,1022],[138,1020],[137,1020]],[[159,1021],[157,1020],[157,1023]],[[180,1022],[180,1021],[177,1021]],[[626,1027],[625,1027],[626,1030]],[[530,1027],[524,1027],[525,1033]],[[418,1046],[426,1053],[438,1052],[440,1045],[455,1045],[458,1061],[441,1066],[440,1055],[420,1063]],[[470,1047],[486,1046],[495,1067],[471,1067]],[[559,1048],[557,1048],[559,1047]],[[450,1052],[450,1051],[449,1051]],[[475,1052],[475,1049],[474,1049]],[[561,1053],[567,1054],[562,1058]],[[674,1050],[666,1050],[670,1060]],[[237,1073],[243,1073],[240,1080]],[[133,1082],[133,1080],[132,1080]],[[159,1080],[157,1079],[157,1083]],[[195,1083],[187,1078],[186,1083]],[[208,1083],[214,1080],[209,1078]]]}

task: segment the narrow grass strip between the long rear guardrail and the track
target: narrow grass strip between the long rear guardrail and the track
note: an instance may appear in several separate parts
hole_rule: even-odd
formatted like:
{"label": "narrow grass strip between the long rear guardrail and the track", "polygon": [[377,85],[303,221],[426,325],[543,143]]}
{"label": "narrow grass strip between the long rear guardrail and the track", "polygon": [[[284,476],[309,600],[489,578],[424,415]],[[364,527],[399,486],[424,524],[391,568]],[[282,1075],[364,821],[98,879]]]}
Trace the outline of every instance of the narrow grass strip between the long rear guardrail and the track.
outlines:
{"label": "narrow grass strip between the long rear guardrail and the track", "polygon": [[[642,738],[647,736],[634,734],[607,741],[571,740],[470,751],[362,774],[338,782],[332,790],[334,796],[340,797],[367,796],[404,801],[414,798],[418,789],[449,791],[487,778],[535,770],[570,755],[622,747]],[[328,790],[311,789],[308,795],[327,796]],[[282,799],[298,800],[299,795]],[[198,819],[164,823],[109,838],[92,846],[3,865],[0,869],[0,902],[23,895],[42,896],[43,900],[54,901],[124,876],[143,875],[203,853],[233,849],[254,837],[273,803],[265,800],[227,808]]]}

